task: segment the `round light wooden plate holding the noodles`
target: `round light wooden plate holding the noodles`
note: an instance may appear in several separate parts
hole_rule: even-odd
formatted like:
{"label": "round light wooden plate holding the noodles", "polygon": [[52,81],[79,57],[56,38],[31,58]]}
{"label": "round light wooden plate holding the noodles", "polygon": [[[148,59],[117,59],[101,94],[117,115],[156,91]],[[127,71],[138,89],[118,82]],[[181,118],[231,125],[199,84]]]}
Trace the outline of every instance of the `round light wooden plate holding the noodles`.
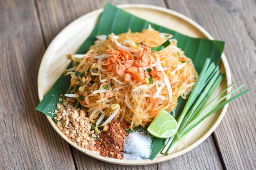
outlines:
{"label": "round light wooden plate holding the noodles", "polygon": [[[173,29],[177,32],[183,33],[184,35],[213,39],[213,37],[209,33],[207,33],[204,28],[199,26],[188,17],[185,17],[184,15],[175,11],[144,4],[124,4],[119,5],[118,7],[145,20],[147,20],[148,16],[150,16],[150,22],[159,24],[166,28]],[[65,27],[63,31],[61,31],[49,45],[43,56],[38,73],[38,96],[40,100],[43,99],[43,96],[45,96],[45,94],[48,92],[48,90],[52,87],[52,85],[55,83],[55,81],[69,64],[66,55],[68,53],[74,54],[78,50],[83,41],[90,35],[102,11],[103,9],[98,9],[74,20],[74,22]],[[221,72],[225,74],[225,78],[222,81],[221,85],[218,87],[216,93],[221,92],[223,89],[231,84],[229,65],[224,54],[222,54],[221,57],[220,67]],[[230,90],[231,89],[229,89],[228,92],[230,92]],[[51,118],[47,116],[47,119],[54,127],[55,131],[57,131],[57,133],[61,135],[61,137],[63,137],[65,141],[67,141],[74,148],[80,150],[87,155],[90,155],[91,157],[121,165],[145,165],[173,159],[189,152],[190,150],[198,146],[216,129],[223,116],[225,115],[227,106],[228,105],[218,111],[218,113],[211,115],[209,118],[207,118],[207,120],[202,122],[200,126],[198,126],[198,128],[196,128],[189,135],[187,135],[187,137],[184,139],[184,142],[186,142],[188,146],[187,148],[185,148],[182,144],[178,144],[177,149],[174,150],[171,155],[159,154],[153,160],[121,160],[102,157],[99,155],[99,153],[81,148],[71,142],[56,127],[55,122]]]}

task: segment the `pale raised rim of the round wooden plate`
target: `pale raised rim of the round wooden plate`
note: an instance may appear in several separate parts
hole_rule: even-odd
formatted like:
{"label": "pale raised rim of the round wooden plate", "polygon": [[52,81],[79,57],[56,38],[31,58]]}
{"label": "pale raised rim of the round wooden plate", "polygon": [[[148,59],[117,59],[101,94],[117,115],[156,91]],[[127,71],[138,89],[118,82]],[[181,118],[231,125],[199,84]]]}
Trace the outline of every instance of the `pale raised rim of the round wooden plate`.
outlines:
{"label": "pale raised rim of the round wooden plate", "polygon": [[[164,7],[159,7],[159,6],[154,6],[154,5],[149,5],[149,4],[119,4],[117,5],[118,8],[120,9],[128,9],[128,8],[143,8],[143,9],[151,9],[151,10],[156,10],[156,11],[161,11],[161,12],[165,12],[168,13],[169,15],[174,15],[175,17],[179,17],[182,20],[192,24],[193,26],[195,26],[195,28],[197,28],[203,35],[205,35],[208,39],[213,40],[213,37],[202,27],[200,26],[198,23],[196,23],[195,21],[193,21],[192,19],[190,19],[189,17],[186,17],[185,15],[178,13],[176,11],[173,11],[171,9],[167,9]],[[74,22],[77,22],[79,20],[81,20],[82,17],[88,16],[88,15],[100,15],[103,12],[103,8],[100,9],[96,9],[94,11],[91,11],[89,13],[86,13],[84,15],[82,15],[81,17],[78,17],[76,20],[72,21],[70,24],[68,24],[67,26],[65,26],[65,28],[63,28],[62,31],[60,31],[58,33],[58,35],[60,35],[62,32],[64,32],[68,26],[74,24]],[[56,37],[54,37],[54,39],[58,38],[58,35],[56,35]],[[52,41],[54,41],[54,39]],[[49,46],[47,47],[47,49],[49,49],[49,47],[51,47],[52,42],[49,44]],[[47,49],[45,51],[45,53],[47,52]],[[43,55],[42,61],[45,57],[45,54]],[[38,71],[38,96],[39,96],[39,100],[41,101],[43,99],[43,96],[47,93],[45,92],[45,94],[40,95],[40,86],[39,86],[39,81],[40,81],[40,70],[42,69],[42,62],[40,63],[40,67],[39,67],[39,71]],[[225,57],[225,54],[222,53],[221,55],[221,62],[225,68],[225,73],[226,73],[226,78],[227,78],[227,86],[231,84],[231,73],[230,73],[230,68],[229,68],[229,64],[227,62],[227,58]],[[231,87],[227,90],[227,92],[231,92]],[[227,98],[229,98],[230,96],[228,96]],[[181,155],[184,155],[185,153],[189,152],[190,150],[192,150],[193,148],[195,148],[196,146],[198,146],[199,144],[201,144],[205,139],[207,139],[209,137],[209,135],[211,135],[211,133],[213,133],[213,131],[217,128],[217,126],[220,124],[221,120],[223,119],[223,117],[225,116],[225,113],[227,111],[227,107],[228,104],[225,105],[222,108],[222,111],[220,113],[220,115],[218,116],[218,119],[216,120],[216,122],[213,124],[213,126],[207,131],[207,133],[205,133],[202,137],[200,137],[200,139],[198,139],[196,142],[194,142],[193,144],[191,144],[188,148],[180,150],[174,154],[171,155],[165,155],[163,157],[157,157],[153,160],[125,160],[125,159],[113,159],[113,158],[108,158],[108,157],[103,157],[100,156],[99,153],[95,152],[95,151],[91,151],[85,148],[81,148],[78,145],[74,144],[74,142],[72,142],[70,139],[68,139],[56,126],[54,120],[52,120],[52,118],[50,118],[49,116],[46,116],[47,120],[49,121],[49,123],[53,126],[54,130],[58,133],[58,135],[60,135],[68,144],[70,144],[71,146],[73,146],[74,148],[76,148],[77,150],[81,151],[82,153],[85,153],[86,155],[93,157],[95,159],[101,160],[101,161],[105,161],[108,163],[115,163],[115,164],[119,164],[119,165],[148,165],[148,164],[154,164],[154,163],[160,163],[160,162],[164,162],[164,161],[168,161],[171,160],[173,158],[179,157]]]}

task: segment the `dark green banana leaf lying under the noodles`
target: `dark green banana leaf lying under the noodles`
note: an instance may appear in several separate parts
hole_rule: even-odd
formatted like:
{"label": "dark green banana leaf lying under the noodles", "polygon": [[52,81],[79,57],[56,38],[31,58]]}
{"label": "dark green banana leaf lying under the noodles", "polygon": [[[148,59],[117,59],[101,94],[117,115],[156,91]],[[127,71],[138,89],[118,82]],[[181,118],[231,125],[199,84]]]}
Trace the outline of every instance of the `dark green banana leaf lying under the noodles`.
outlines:
{"label": "dark green banana leaf lying under the noodles", "polygon": [[[94,27],[94,30],[81,45],[77,51],[77,54],[86,53],[89,47],[94,44],[96,35],[108,35],[110,33],[115,33],[117,35],[127,32],[128,29],[131,29],[132,32],[140,32],[143,29],[148,28],[149,24],[152,26],[152,28],[159,32],[173,34],[174,38],[177,39],[178,47],[184,50],[184,53],[187,57],[192,59],[195,65],[195,69],[198,71],[198,73],[200,73],[202,70],[202,66],[207,57],[209,57],[216,65],[218,65],[221,54],[224,50],[225,43],[223,41],[188,37],[168,28],[153,24],[150,21],[146,21],[131,15],[130,13],[119,9],[110,3],[108,3],[104,8],[104,11],[101,13],[99,20]],[[64,95],[69,87],[70,76],[62,75],[49,90],[43,100],[39,103],[36,109],[54,119],[54,116],[56,116],[56,114],[54,114],[54,110],[56,110],[58,97],[61,94]],[[179,113],[182,111],[182,108],[186,103],[186,100],[179,98],[178,103],[179,104],[175,111],[175,118],[179,116]],[[141,127],[138,129],[141,129]],[[163,147],[164,139],[153,137],[151,147],[152,152],[149,159],[154,159]]]}

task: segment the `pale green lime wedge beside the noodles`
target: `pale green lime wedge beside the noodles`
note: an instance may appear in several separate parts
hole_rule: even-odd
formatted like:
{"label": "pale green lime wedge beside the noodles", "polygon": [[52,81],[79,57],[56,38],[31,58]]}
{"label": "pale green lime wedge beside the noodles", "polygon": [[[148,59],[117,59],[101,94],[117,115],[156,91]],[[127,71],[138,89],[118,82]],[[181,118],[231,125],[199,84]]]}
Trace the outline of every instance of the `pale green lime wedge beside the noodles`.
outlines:
{"label": "pale green lime wedge beside the noodles", "polygon": [[148,132],[157,138],[168,138],[173,136],[178,129],[177,121],[167,111],[159,111],[151,124],[148,126]]}

